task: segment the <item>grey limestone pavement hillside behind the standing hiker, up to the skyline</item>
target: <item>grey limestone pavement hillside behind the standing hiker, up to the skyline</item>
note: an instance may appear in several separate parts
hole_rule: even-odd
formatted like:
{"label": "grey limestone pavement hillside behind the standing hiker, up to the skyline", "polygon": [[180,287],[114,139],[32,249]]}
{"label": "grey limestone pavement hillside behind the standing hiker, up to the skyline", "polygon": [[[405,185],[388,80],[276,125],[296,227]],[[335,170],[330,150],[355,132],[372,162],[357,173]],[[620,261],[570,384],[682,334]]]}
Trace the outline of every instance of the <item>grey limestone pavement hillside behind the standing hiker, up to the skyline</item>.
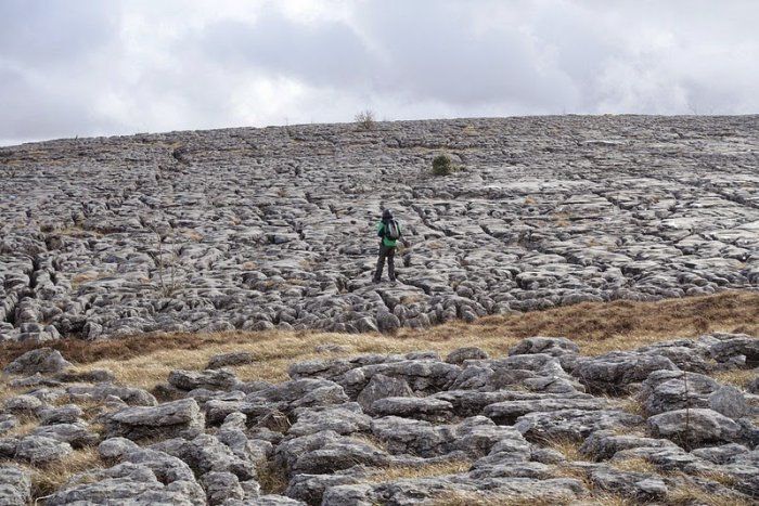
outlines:
{"label": "grey limestone pavement hillside behind the standing hiker, up to the skyline", "polygon": [[[0,340],[424,327],[756,288],[759,118],[232,129],[0,148]],[[461,170],[430,174],[449,153]],[[370,283],[383,207],[400,283]]]}

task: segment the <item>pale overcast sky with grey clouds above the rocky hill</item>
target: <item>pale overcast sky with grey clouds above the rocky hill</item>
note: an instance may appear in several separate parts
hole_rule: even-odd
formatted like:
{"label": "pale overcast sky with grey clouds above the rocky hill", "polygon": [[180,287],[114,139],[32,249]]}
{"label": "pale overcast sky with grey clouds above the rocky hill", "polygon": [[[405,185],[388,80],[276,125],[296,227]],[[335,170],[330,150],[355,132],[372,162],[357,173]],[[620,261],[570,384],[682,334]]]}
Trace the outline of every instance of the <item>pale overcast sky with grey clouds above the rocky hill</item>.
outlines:
{"label": "pale overcast sky with grey clouds above the rocky hill", "polygon": [[759,2],[0,0],[0,144],[235,126],[759,112]]}

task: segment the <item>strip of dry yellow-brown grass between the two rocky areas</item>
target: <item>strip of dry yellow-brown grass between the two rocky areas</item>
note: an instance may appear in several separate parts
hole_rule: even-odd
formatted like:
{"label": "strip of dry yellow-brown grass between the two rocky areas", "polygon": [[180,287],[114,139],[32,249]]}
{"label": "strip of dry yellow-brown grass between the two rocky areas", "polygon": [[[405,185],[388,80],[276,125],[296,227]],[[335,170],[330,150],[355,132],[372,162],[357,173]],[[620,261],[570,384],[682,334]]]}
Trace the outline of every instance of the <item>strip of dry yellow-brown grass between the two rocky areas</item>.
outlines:
{"label": "strip of dry yellow-brown grass between the two rocky areas", "polygon": [[[451,322],[425,329],[403,328],[393,336],[318,332],[228,332],[218,334],[141,335],[124,339],[51,343],[9,343],[0,349],[0,366],[39,346],[60,350],[78,369],[107,368],[119,382],[145,389],[165,381],[171,369],[202,369],[217,353],[248,351],[254,364],[234,367],[243,380],[286,379],[293,362],[357,353],[435,350],[446,353],[478,346],[502,355],[516,341],[530,336],[564,336],[586,355],[634,349],[647,343],[710,332],[745,333],[759,337],[759,293],[726,291],[657,302],[586,302],[546,311],[488,316],[475,323]],[[319,345],[340,351],[318,353]],[[743,378],[724,378],[742,382]]]}

